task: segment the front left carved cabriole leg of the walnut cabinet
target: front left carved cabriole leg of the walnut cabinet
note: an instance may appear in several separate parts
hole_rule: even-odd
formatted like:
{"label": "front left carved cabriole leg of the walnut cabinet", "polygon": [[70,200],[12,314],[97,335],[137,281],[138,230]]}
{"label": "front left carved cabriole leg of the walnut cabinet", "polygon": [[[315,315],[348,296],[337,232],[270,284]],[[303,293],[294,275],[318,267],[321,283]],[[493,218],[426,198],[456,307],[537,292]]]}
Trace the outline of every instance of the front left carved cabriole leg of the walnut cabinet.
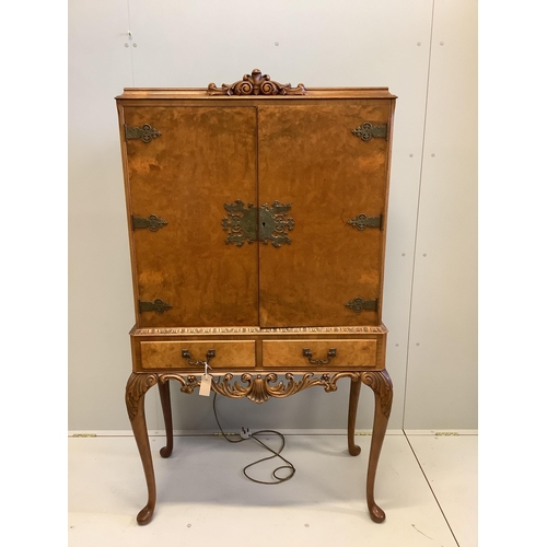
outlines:
{"label": "front left carved cabriole leg of the walnut cabinet", "polygon": [[155,374],[137,374],[133,372],[129,376],[126,386],[127,414],[129,415],[135,440],[139,449],[148,487],[148,502],[137,515],[137,522],[139,524],[148,524],[152,520],[156,499],[154,467],[152,464],[147,419],[144,416],[144,394],[155,383],[158,383],[158,376]]}

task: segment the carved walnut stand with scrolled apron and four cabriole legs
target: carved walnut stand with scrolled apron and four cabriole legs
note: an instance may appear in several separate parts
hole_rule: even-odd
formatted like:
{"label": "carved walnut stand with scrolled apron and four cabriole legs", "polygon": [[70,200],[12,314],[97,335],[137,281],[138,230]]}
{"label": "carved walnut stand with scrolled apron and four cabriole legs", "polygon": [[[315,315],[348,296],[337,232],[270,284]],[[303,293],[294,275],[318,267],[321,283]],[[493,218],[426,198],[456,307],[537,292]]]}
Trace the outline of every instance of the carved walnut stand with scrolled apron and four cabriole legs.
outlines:
{"label": "carved walnut stand with scrolled apron and four cabriole legs", "polygon": [[[295,380],[295,375],[302,375],[301,380]],[[270,397],[288,397],[313,386],[321,386],[325,392],[334,392],[337,389],[336,383],[342,377],[351,380],[348,414],[348,450],[352,456],[357,456],[361,452],[361,447],[354,442],[361,383],[368,385],[374,392],[374,423],[372,428],[369,468],[366,472],[366,503],[371,519],[380,523],[385,520],[385,513],[374,501],[374,481],[393,400],[393,385],[385,369],[381,371],[321,372],[318,374],[313,372],[284,373],[283,380],[280,382],[278,382],[278,373],[275,372],[266,374],[244,373],[241,374],[242,383],[234,380],[233,374],[224,374],[219,376],[218,380],[212,381],[211,388],[214,393],[230,398],[247,397],[254,403],[264,403]],[[173,452],[170,380],[178,381],[183,393],[193,393],[200,385],[197,376],[184,373],[133,372],[129,376],[126,386],[127,411],[144,468],[148,487],[148,502],[137,515],[139,524],[148,524],[151,521],[156,501],[154,467],[144,415],[144,395],[150,387],[158,384],[166,431],[166,445],[160,451],[160,454],[162,457],[168,457]]]}

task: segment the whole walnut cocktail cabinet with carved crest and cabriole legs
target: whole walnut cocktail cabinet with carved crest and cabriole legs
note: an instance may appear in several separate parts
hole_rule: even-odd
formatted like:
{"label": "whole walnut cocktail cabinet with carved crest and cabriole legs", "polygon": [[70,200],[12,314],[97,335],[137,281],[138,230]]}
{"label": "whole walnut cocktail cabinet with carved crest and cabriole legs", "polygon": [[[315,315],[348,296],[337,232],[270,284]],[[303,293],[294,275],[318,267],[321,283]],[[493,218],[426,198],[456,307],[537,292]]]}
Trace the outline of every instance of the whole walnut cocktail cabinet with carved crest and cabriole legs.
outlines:
{"label": "whole walnut cocktail cabinet with carved crest and cabriole legs", "polygon": [[382,522],[374,479],[392,406],[382,290],[395,96],[292,88],[254,70],[220,88],[126,89],[116,101],[137,318],[126,403],[149,493],[138,522],[156,500],[144,394],[158,384],[167,457],[170,381],[193,393],[211,377],[213,392],[255,403],[348,379],[352,455],[369,385],[366,501]]}

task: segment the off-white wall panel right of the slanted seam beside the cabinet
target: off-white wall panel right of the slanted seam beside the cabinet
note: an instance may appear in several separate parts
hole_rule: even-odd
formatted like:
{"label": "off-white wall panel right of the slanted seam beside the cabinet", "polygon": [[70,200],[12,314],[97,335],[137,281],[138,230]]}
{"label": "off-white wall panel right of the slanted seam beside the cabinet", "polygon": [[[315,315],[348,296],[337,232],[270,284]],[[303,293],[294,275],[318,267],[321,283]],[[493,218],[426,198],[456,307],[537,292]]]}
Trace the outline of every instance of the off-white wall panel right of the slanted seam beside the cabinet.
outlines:
{"label": "off-white wall panel right of the slanted seam beside the cabinet", "polygon": [[477,7],[435,2],[406,429],[477,428]]}

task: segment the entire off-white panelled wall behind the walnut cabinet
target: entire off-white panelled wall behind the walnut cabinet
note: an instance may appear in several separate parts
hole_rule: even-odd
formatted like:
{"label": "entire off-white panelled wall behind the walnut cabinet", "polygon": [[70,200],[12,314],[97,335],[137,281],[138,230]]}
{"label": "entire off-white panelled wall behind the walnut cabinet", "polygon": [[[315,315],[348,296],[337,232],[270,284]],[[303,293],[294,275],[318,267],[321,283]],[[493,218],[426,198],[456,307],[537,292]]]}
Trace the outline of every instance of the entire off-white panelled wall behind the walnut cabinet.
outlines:
{"label": "entire off-white panelled wall behind the walnut cabinet", "polygon": [[[310,88],[387,85],[399,97],[384,295],[389,428],[477,428],[475,0],[82,0],[69,4],[69,25],[70,430],[129,429],[133,316],[114,96],[231,83],[254,68]],[[216,428],[211,398],[177,392],[175,429]],[[226,428],[342,429],[348,393],[340,383],[334,394],[218,405]],[[372,400],[363,389],[358,428],[371,427]],[[149,429],[163,429],[155,389],[147,411]]]}

